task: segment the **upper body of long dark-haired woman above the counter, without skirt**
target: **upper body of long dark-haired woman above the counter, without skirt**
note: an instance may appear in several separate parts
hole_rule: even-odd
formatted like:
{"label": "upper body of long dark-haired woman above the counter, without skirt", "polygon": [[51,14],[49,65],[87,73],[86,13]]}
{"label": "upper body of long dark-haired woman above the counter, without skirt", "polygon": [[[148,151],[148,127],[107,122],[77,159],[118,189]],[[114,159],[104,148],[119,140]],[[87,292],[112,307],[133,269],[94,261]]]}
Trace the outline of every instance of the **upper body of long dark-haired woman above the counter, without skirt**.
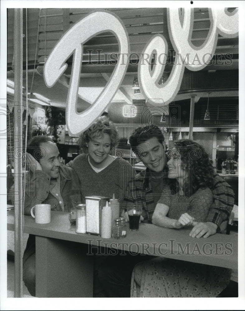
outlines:
{"label": "upper body of long dark-haired woman above the counter, without skirt", "polygon": [[179,229],[205,221],[213,202],[214,169],[208,154],[198,143],[182,139],[167,156],[170,182],[156,205],[152,223]]}

